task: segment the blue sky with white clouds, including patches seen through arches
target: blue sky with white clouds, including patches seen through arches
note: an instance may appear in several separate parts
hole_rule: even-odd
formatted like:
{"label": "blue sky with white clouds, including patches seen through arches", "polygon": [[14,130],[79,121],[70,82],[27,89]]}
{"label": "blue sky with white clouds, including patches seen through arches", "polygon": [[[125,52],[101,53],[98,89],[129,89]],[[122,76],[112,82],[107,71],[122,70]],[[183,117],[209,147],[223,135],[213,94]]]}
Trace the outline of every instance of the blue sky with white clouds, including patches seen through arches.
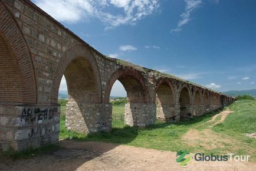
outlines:
{"label": "blue sky with white clouds, including patches seen through arches", "polygon": [[254,0],[33,2],[105,55],[217,91],[256,88]]}

